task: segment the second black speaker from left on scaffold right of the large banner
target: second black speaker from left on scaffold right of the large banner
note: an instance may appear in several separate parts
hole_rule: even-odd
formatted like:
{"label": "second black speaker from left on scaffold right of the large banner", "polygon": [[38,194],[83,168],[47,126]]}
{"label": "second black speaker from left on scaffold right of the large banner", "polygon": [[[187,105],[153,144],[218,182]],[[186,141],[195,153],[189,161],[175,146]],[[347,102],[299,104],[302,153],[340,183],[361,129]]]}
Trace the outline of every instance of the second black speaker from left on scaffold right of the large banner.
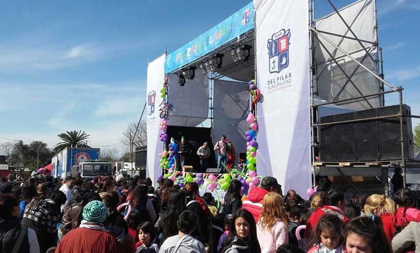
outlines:
{"label": "second black speaker from left on scaffold right of the large banner", "polygon": [[[352,120],[355,118],[355,112],[335,115],[335,121]],[[354,123],[335,125],[335,145],[337,161],[356,161],[356,132]]]}

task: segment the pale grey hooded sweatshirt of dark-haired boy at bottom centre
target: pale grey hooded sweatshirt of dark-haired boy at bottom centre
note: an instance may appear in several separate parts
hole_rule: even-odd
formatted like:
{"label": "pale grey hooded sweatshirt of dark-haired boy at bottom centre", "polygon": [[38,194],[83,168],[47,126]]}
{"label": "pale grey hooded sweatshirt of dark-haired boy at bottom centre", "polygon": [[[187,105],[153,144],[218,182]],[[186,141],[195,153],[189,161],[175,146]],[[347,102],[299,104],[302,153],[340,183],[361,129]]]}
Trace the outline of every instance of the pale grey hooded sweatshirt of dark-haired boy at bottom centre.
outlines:
{"label": "pale grey hooded sweatshirt of dark-haired boy at bottom centre", "polygon": [[178,235],[168,237],[162,244],[159,253],[173,253],[173,252],[191,252],[204,253],[204,245],[191,235],[184,235],[182,238]]}

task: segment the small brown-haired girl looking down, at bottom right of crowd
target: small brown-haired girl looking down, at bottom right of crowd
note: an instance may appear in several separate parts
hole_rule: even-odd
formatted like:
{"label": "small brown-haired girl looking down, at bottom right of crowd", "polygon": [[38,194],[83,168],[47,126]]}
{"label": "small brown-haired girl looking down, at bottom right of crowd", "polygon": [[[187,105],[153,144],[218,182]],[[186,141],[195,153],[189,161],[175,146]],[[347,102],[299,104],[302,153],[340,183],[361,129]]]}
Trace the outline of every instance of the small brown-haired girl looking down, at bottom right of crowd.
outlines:
{"label": "small brown-haired girl looking down, at bottom right of crowd", "polygon": [[316,227],[317,244],[308,253],[342,253],[341,228],[343,222],[333,214],[325,214]]}

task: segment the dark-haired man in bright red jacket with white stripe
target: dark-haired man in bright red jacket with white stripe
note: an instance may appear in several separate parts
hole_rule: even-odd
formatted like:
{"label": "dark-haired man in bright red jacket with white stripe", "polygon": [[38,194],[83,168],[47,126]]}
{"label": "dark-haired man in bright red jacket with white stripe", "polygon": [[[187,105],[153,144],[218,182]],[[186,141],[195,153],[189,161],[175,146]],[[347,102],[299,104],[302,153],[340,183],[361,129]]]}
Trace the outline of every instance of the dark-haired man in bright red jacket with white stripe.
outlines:
{"label": "dark-haired man in bright red jacket with white stripe", "polygon": [[262,200],[269,192],[278,193],[283,197],[282,185],[278,184],[277,179],[272,176],[266,176],[261,181],[261,187],[253,187],[249,191],[248,197],[242,204],[242,209],[251,212],[255,222],[258,221],[262,212]]}

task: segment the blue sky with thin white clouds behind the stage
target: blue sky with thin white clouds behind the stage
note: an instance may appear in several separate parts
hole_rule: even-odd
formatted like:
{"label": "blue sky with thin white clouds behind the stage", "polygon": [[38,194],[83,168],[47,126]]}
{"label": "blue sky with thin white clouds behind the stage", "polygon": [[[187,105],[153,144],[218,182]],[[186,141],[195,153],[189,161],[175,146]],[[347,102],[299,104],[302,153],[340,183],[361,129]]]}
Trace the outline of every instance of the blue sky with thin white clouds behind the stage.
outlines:
{"label": "blue sky with thin white clouds behind the stage", "polygon": [[[53,148],[58,134],[83,130],[93,147],[127,151],[121,133],[145,104],[148,60],[249,2],[0,0],[0,143]],[[377,9],[385,79],[403,86],[404,102],[420,114],[420,1],[377,0]],[[326,0],[315,2],[317,18],[332,11]]]}

